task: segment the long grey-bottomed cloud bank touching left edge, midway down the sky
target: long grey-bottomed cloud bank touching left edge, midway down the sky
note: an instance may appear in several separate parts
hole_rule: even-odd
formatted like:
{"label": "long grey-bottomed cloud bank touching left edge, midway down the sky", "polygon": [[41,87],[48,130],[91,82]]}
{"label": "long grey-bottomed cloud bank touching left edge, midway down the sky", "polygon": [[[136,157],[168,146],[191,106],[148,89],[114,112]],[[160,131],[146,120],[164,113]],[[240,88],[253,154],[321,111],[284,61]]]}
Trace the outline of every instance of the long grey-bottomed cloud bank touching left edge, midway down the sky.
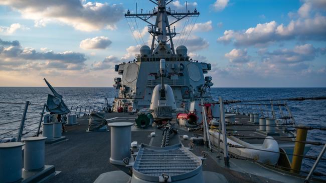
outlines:
{"label": "long grey-bottomed cloud bank touching left edge, midway down the sky", "polygon": [[[22,48],[19,41],[4,41],[0,39],[0,60],[1,65],[6,68],[28,67],[39,68],[61,68],[68,70],[82,69],[85,66],[86,56],[83,53],[74,51],[38,52],[34,48]],[[36,67],[37,66],[37,67]]]}

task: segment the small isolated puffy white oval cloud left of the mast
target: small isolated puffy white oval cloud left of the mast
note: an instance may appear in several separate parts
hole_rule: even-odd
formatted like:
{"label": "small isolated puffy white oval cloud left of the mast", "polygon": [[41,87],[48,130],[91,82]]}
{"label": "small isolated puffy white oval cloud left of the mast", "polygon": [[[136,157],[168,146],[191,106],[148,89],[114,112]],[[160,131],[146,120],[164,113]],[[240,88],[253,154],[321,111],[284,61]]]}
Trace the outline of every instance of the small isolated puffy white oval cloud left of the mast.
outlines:
{"label": "small isolated puffy white oval cloud left of the mast", "polygon": [[82,40],[79,46],[83,49],[105,49],[111,43],[112,41],[108,37],[97,36]]}

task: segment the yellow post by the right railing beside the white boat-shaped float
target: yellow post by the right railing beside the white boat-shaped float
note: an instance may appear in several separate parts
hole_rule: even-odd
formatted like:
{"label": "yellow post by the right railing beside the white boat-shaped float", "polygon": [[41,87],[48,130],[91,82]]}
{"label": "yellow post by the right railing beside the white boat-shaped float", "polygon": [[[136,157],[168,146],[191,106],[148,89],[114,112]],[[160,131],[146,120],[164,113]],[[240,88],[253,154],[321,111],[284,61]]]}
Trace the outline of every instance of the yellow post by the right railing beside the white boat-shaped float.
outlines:
{"label": "yellow post by the right railing beside the white boat-shaped float", "polygon": [[[307,138],[307,129],[297,128],[296,131],[296,141],[305,141]],[[294,143],[294,150],[293,150],[293,157],[292,157],[292,163],[291,163],[291,172],[299,173],[299,170],[301,169],[301,163],[302,163],[302,157],[297,155],[303,155],[304,152],[304,145],[305,143],[301,142],[295,142]]]}

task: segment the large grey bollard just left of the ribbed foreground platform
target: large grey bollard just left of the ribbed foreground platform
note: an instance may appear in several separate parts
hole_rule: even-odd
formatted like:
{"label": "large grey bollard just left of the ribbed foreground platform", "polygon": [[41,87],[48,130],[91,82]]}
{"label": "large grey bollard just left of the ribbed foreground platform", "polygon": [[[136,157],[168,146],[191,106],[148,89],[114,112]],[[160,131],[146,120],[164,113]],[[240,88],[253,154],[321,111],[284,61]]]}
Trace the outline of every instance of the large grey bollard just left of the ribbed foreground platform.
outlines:
{"label": "large grey bollard just left of the ribbed foreground platform", "polygon": [[111,126],[111,157],[112,164],[125,165],[123,159],[131,157],[131,126],[132,122],[112,122]]}

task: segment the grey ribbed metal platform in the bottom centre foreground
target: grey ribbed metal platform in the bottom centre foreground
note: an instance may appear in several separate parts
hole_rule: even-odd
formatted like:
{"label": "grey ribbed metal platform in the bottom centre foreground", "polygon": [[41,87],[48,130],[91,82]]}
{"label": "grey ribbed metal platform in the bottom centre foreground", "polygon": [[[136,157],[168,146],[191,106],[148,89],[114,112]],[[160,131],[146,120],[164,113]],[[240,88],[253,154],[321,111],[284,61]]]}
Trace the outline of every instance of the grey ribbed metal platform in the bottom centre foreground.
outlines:
{"label": "grey ribbed metal platform in the bottom centre foreground", "polygon": [[168,147],[141,144],[132,166],[132,183],[204,182],[202,160],[181,143]]}

